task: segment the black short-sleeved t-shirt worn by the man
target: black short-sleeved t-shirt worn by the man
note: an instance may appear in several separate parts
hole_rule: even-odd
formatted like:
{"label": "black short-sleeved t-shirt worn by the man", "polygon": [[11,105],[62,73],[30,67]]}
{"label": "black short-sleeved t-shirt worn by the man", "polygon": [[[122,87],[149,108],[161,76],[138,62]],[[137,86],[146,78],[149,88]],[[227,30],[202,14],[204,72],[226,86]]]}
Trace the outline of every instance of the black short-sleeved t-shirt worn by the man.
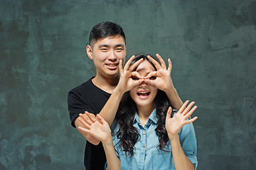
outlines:
{"label": "black short-sleeved t-shirt worn by the man", "polygon": [[[79,113],[97,114],[107,103],[111,94],[108,94],[102,89],[98,88],[92,83],[92,77],[84,84],[75,87],[68,93],[68,111],[70,113],[71,125],[75,127],[74,120],[78,118]],[[90,142],[86,142],[84,164],[87,170],[90,169],[104,169],[106,163],[106,156],[102,143],[95,146]]]}

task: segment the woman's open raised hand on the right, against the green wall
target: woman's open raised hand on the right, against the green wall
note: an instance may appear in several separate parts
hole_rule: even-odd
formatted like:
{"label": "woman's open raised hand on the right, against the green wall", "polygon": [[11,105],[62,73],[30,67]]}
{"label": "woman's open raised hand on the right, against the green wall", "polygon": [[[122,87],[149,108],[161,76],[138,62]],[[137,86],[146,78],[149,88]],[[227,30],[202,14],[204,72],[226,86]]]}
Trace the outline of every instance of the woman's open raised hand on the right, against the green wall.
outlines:
{"label": "woman's open raised hand on the right, against the green wall", "polygon": [[[180,110],[171,118],[171,107],[167,111],[166,115],[166,130],[170,140],[175,139],[178,137],[178,132],[181,130],[183,125],[188,123],[193,123],[198,117],[194,117],[191,120],[187,120],[189,116],[196,110],[197,106],[193,106],[195,102],[191,102],[188,107],[186,108],[188,101],[186,101],[183,106],[181,106]],[[193,108],[191,109],[191,107]],[[189,111],[190,110],[190,111]]]}

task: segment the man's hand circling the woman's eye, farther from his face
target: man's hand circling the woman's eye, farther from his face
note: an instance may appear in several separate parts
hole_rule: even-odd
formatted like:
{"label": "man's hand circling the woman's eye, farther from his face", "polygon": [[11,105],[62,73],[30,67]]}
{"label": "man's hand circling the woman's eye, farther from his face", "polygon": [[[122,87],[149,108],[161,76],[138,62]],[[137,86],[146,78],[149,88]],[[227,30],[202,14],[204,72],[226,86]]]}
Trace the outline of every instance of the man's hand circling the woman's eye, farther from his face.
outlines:
{"label": "man's hand circling the woman's eye, farther from his face", "polygon": [[[149,60],[156,67],[156,72],[151,72],[146,77],[144,77],[144,79],[147,84],[151,84],[153,86],[156,86],[161,91],[167,92],[171,88],[174,88],[173,82],[171,80],[171,68],[172,68],[171,60],[168,59],[169,65],[167,68],[161,56],[159,54],[156,54],[156,57],[159,59],[161,65],[152,57],[148,56]],[[151,77],[156,77],[156,78],[151,79]]]}

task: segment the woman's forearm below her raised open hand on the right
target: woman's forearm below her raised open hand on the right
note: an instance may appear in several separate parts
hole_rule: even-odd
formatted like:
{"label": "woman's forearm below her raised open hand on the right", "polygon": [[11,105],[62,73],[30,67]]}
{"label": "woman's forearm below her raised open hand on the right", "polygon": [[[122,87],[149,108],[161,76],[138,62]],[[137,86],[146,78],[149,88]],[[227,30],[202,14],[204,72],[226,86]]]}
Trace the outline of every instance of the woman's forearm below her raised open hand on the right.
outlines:
{"label": "woman's forearm below her raised open hand on the right", "polygon": [[[170,138],[170,137],[169,137]],[[174,166],[176,170],[194,169],[193,164],[188,159],[186,154],[183,152],[179,137],[170,138],[171,141],[171,152],[174,158]]]}

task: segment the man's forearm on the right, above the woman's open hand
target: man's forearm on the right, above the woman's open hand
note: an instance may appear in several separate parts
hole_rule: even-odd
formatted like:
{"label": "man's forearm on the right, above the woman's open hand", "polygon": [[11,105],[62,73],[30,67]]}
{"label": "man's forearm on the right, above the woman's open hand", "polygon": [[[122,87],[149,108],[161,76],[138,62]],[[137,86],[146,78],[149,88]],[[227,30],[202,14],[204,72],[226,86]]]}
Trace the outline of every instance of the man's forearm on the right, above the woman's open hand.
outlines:
{"label": "man's forearm on the right, above the woman's open hand", "polygon": [[175,109],[179,110],[183,105],[183,102],[181,101],[181,98],[178,96],[178,93],[174,88],[174,85],[172,85],[171,88],[166,89],[165,92],[169,98],[171,106],[174,106]]}

